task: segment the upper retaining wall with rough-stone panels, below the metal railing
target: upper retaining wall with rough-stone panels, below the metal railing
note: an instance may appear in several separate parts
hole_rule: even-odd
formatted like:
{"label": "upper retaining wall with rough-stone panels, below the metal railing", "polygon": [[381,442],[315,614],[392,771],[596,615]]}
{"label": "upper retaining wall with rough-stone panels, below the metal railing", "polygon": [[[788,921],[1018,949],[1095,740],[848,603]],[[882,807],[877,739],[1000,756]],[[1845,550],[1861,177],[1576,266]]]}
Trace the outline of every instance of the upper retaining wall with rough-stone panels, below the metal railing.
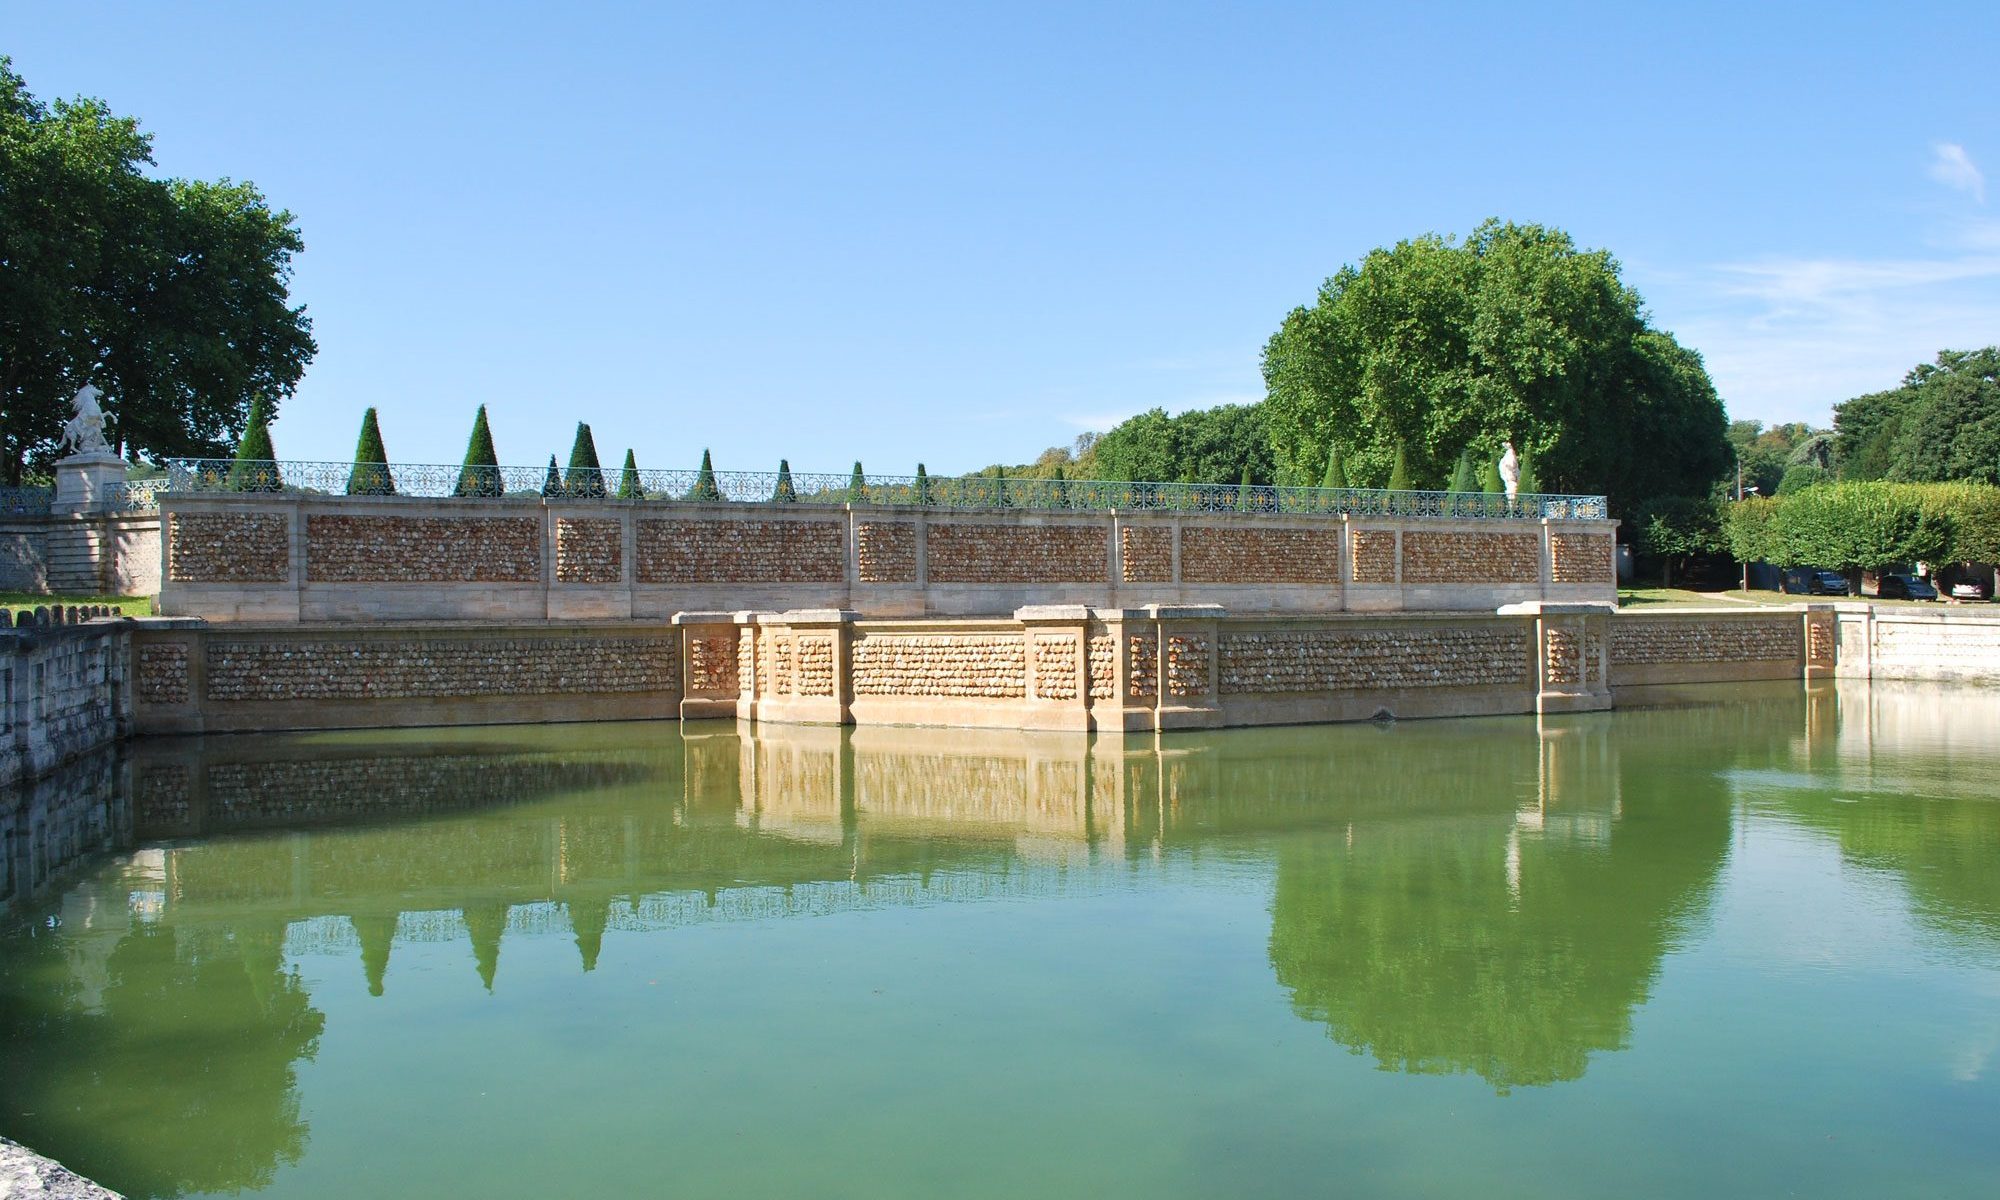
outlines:
{"label": "upper retaining wall with rough-stone panels, below the metal railing", "polygon": [[1614,602],[1610,520],[164,498],[160,610],[210,620],[666,620],[1028,604],[1232,612]]}

